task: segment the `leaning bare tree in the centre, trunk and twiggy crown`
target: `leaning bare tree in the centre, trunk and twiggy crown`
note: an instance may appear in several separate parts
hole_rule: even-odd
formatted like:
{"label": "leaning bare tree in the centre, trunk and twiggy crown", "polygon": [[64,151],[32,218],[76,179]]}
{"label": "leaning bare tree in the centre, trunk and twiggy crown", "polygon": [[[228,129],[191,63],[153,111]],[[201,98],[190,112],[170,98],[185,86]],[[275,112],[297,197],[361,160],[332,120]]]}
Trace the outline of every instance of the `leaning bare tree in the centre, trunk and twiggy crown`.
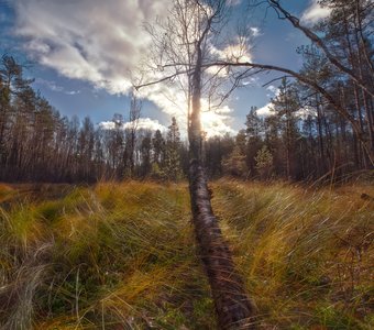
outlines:
{"label": "leaning bare tree in the centre, trunk and twiggy crown", "polygon": [[218,78],[226,75],[219,67],[209,70],[207,64],[221,58],[215,42],[222,42],[219,32],[227,12],[224,0],[174,0],[166,18],[147,26],[154,76],[136,88],[178,82],[185,91],[193,220],[218,322],[221,329],[253,329],[254,308],[213,213],[202,164],[201,98],[211,100],[220,86]]}

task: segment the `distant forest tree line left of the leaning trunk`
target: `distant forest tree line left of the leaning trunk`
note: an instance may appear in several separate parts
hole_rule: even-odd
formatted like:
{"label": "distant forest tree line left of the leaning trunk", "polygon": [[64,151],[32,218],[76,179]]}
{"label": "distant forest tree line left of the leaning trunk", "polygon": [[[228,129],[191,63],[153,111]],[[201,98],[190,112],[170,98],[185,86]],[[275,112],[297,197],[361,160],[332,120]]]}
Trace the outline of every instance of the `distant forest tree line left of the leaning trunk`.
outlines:
{"label": "distant forest tree line left of the leaning trunk", "polygon": [[96,182],[125,177],[176,180],[186,146],[173,118],[165,135],[138,129],[141,103],[132,98],[130,124],[116,114],[114,128],[87,117],[61,116],[24,79],[22,66],[4,55],[0,64],[0,179]]}

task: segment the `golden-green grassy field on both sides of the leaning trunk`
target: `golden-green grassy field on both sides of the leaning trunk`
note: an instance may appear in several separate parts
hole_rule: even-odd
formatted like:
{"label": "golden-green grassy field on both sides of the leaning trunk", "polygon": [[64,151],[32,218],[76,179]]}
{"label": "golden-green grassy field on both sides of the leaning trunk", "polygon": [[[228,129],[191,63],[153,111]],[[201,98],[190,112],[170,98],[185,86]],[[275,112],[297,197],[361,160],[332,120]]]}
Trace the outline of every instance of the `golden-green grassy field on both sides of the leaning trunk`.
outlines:
{"label": "golden-green grassy field on both sides of the leaning trunk", "polygon": [[[374,187],[218,180],[260,329],[373,329]],[[1,329],[216,329],[186,184],[0,185]]]}

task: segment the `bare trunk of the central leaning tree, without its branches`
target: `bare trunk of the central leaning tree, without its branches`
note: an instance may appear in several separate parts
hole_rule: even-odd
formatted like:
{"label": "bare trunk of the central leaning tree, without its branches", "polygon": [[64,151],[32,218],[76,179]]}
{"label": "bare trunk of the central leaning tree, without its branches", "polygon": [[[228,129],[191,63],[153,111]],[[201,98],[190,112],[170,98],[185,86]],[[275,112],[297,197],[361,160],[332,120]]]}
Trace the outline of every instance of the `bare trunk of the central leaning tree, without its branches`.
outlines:
{"label": "bare trunk of the central leaning tree, without its branches", "polygon": [[189,140],[189,193],[194,217],[195,234],[200,250],[215,301],[218,324],[222,330],[254,329],[254,308],[237,273],[227,242],[222,237],[218,220],[213,215],[208,190],[207,175],[202,168],[201,130],[201,75],[202,50],[211,16],[196,44],[196,63],[191,75],[191,114],[188,127]]}

